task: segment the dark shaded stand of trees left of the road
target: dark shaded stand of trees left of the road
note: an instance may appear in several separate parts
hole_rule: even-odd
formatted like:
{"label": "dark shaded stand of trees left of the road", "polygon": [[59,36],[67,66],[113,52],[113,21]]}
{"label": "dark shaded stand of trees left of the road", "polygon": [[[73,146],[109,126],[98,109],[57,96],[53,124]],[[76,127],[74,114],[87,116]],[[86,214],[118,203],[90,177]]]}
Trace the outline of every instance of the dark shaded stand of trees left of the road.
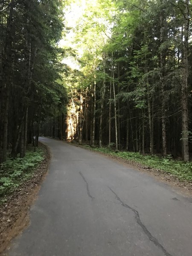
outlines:
{"label": "dark shaded stand of trees left of the road", "polygon": [[63,20],[61,1],[0,1],[1,161],[24,157],[28,144],[38,145],[45,116],[65,112],[63,51],[57,47]]}

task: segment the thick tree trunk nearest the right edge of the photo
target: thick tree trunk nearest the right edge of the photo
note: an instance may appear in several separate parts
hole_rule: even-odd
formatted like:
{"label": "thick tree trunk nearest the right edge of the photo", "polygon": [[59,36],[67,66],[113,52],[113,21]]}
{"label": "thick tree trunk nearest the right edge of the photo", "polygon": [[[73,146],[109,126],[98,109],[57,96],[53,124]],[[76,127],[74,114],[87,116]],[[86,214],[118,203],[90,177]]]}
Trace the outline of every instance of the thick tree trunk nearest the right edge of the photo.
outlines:
{"label": "thick tree trunk nearest the right edge of the photo", "polygon": [[181,84],[182,109],[182,146],[183,160],[189,161],[189,131],[188,131],[188,48],[189,48],[189,0],[185,0],[184,15],[184,41],[183,41],[183,75]]}

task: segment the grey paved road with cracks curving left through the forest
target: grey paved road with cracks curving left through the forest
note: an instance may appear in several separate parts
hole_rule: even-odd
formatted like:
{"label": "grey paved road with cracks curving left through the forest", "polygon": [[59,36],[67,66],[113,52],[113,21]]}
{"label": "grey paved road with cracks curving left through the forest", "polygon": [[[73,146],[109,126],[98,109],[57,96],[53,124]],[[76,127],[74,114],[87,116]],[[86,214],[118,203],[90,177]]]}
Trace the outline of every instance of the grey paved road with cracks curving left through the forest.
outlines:
{"label": "grey paved road with cracks curving left through the forest", "polygon": [[192,256],[192,201],[95,152],[41,138],[52,161],[9,256]]}

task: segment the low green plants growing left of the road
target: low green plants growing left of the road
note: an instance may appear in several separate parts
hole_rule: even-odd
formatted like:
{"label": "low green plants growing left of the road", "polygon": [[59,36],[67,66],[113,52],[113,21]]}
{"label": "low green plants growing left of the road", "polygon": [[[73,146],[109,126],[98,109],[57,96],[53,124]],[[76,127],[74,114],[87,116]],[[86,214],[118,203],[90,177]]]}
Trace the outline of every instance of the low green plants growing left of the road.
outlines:
{"label": "low green plants growing left of the road", "polygon": [[8,158],[0,164],[0,201],[6,201],[6,195],[14,192],[25,180],[29,180],[35,167],[44,159],[41,148],[29,148],[23,158]]}

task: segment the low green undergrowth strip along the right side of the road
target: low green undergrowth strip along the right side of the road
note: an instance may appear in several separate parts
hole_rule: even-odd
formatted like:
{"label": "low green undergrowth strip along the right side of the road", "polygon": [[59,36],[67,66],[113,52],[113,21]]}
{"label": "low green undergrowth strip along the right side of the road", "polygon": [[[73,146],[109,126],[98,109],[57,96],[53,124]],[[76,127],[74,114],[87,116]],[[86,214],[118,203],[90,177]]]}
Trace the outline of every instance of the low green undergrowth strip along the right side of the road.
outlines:
{"label": "low green undergrowth strip along the right side of the road", "polygon": [[143,166],[161,170],[165,173],[174,175],[179,180],[192,181],[192,162],[183,162],[174,160],[172,157],[159,157],[156,155],[143,155],[139,152],[118,151],[115,152],[110,148],[91,148],[89,145],[84,145],[85,148],[99,151],[111,156],[117,156],[125,160],[140,163]]}

